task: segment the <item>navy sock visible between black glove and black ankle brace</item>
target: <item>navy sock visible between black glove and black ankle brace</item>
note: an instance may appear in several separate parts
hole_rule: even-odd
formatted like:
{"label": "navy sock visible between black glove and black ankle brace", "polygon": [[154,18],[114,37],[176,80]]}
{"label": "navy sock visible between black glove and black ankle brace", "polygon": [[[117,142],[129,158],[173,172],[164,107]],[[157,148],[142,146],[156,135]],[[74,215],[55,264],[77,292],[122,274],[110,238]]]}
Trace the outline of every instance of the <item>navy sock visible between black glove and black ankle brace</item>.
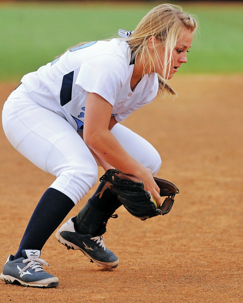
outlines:
{"label": "navy sock visible between black glove and black ankle brace", "polygon": [[[102,210],[106,214],[113,213],[122,203],[118,200],[117,195],[114,195],[110,189],[106,189],[100,198],[98,193],[101,192],[104,187],[104,181],[101,181],[94,195],[90,198],[92,205]],[[97,195],[98,194],[98,195]]]}

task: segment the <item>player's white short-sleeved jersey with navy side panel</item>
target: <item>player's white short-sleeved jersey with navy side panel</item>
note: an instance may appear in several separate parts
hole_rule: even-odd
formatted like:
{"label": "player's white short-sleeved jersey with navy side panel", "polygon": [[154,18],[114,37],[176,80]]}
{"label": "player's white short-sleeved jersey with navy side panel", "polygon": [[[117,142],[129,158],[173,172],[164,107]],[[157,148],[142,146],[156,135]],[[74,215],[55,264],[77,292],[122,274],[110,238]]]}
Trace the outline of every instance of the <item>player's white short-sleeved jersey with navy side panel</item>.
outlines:
{"label": "player's white short-sleeved jersey with navy side panel", "polygon": [[97,41],[68,50],[21,82],[33,100],[65,118],[76,131],[84,127],[87,92],[97,93],[113,107],[117,122],[152,102],[158,92],[157,74],[145,75],[132,91],[134,64],[128,43]]}

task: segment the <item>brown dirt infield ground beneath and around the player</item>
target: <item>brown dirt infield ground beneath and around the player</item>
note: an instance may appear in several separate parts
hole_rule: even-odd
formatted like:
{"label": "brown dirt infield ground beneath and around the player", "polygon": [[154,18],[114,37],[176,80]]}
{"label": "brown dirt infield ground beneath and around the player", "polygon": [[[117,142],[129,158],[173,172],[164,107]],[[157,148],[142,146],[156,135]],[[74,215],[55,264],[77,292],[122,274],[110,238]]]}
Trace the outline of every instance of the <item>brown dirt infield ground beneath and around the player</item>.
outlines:
{"label": "brown dirt infield ground beneath and around the player", "polygon": [[[178,98],[156,99],[124,124],[156,147],[163,160],[158,176],[180,189],[172,211],[142,222],[118,209],[105,234],[105,245],[120,259],[114,270],[66,250],[53,234],[42,258],[60,285],[37,289],[0,282],[1,302],[243,302],[243,75],[171,82]],[[16,85],[1,84],[1,109]],[[3,265],[54,177],[16,152],[2,128],[0,146]]]}

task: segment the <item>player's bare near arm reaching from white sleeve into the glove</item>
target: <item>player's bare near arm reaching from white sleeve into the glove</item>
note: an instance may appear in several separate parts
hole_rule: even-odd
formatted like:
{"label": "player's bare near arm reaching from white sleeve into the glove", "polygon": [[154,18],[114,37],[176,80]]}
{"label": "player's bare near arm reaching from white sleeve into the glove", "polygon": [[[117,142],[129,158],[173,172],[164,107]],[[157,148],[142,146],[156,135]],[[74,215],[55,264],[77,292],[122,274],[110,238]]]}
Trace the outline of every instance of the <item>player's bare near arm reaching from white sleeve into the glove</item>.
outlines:
{"label": "player's bare near arm reaching from white sleeve into the glove", "polygon": [[[124,172],[140,178],[160,204],[159,187],[150,169],[131,157],[110,132],[112,105],[100,95],[88,93],[84,116],[84,142],[104,162]],[[109,127],[110,125],[110,127]]]}

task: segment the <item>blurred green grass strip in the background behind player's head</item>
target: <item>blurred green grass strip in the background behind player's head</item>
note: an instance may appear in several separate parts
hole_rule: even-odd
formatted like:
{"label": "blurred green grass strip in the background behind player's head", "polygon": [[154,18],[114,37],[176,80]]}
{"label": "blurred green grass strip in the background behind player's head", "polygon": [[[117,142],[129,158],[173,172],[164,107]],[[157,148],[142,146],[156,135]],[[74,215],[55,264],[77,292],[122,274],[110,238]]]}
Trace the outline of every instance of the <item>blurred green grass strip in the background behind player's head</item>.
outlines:
{"label": "blurred green grass strip in the background behind player's head", "polygon": [[[200,24],[180,73],[242,73],[243,6],[179,3]],[[19,80],[81,41],[109,38],[119,28],[132,30],[157,4],[0,4],[0,80]]]}

